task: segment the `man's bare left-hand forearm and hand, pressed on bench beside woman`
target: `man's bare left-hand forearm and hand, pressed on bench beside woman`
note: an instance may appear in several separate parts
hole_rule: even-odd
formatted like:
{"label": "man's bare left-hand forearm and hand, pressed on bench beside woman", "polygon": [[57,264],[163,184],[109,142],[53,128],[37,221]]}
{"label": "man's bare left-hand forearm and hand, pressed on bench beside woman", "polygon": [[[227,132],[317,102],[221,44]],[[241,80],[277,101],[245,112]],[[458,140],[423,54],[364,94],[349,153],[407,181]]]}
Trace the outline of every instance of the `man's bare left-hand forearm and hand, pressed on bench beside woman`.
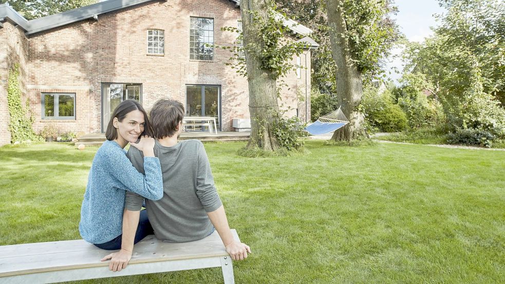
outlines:
{"label": "man's bare left-hand forearm and hand, pressed on bench beside woman", "polygon": [[139,219],[140,211],[124,210],[121,250],[116,253],[108,254],[101,260],[105,261],[110,259],[109,270],[121,271],[126,268],[128,261],[132,259],[133,244],[137,226],[139,225]]}

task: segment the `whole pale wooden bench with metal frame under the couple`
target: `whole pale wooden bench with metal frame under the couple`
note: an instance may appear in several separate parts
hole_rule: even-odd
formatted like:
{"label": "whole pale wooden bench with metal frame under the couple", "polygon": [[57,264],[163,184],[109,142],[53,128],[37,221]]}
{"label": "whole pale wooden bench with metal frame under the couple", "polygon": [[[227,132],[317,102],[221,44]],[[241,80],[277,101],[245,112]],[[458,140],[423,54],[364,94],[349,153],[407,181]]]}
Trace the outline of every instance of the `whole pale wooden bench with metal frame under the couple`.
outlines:
{"label": "whole pale wooden bench with metal frame under the couple", "polygon": [[[232,234],[239,241],[235,230]],[[109,271],[109,262],[100,261],[108,253],[84,240],[4,245],[0,283],[55,283],[211,267],[221,267],[226,284],[235,282],[232,259],[217,232],[184,243],[147,236],[135,245],[132,260],[119,272]]]}

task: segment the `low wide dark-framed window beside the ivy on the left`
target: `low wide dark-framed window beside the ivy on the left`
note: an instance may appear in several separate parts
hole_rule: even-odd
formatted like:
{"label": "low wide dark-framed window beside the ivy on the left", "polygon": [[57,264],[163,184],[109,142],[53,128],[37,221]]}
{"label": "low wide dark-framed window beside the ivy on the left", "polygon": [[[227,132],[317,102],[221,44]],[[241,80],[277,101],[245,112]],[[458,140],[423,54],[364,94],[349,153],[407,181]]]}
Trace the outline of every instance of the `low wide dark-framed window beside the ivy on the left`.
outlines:
{"label": "low wide dark-framed window beside the ivy on the left", "polygon": [[42,93],[42,119],[76,119],[75,93]]}

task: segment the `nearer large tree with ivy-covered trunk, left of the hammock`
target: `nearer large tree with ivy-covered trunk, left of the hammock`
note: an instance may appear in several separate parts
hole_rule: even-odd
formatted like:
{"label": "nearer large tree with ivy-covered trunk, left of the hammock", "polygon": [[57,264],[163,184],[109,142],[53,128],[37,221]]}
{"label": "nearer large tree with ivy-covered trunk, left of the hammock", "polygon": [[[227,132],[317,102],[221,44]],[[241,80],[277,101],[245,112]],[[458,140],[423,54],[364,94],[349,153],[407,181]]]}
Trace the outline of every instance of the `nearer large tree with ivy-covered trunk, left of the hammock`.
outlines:
{"label": "nearer large tree with ivy-covered trunk, left of the hammock", "polygon": [[[286,39],[283,15],[275,8],[271,0],[240,2],[247,70],[244,74],[249,85],[251,114],[251,137],[247,148],[268,151],[280,147],[274,129],[280,118],[277,80],[294,67],[288,61],[293,55],[300,54],[304,47]],[[244,61],[239,58],[239,63]],[[242,67],[238,67],[238,72],[244,70]]]}

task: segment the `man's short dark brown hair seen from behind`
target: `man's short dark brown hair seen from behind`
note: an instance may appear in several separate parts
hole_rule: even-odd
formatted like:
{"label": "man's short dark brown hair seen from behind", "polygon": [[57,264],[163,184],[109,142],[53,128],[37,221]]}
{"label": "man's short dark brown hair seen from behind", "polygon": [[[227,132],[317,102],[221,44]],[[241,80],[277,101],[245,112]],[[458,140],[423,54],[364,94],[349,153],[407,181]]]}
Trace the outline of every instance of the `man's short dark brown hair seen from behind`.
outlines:
{"label": "man's short dark brown hair seen from behind", "polygon": [[184,106],[176,100],[161,99],[153,105],[149,117],[156,139],[171,137],[179,130],[177,126],[184,118]]}

